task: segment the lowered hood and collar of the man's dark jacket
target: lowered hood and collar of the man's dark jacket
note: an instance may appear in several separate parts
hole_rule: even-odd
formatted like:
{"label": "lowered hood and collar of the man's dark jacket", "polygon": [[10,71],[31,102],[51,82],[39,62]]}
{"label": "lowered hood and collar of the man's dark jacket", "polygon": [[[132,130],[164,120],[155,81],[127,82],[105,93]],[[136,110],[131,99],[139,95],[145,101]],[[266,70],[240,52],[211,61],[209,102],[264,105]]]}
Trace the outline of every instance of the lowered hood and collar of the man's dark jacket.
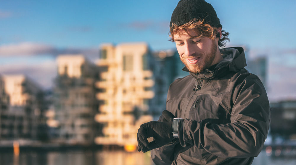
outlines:
{"label": "lowered hood and collar of the man's dark jacket", "polygon": [[215,75],[229,69],[230,71],[237,72],[238,70],[247,66],[246,57],[244,55],[244,48],[242,47],[229,47],[220,49],[223,60],[221,60],[214,70],[206,69],[201,73],[195,74],[190,72],[186,67],[184,71],[189,72],[193,78],[213,79]]}

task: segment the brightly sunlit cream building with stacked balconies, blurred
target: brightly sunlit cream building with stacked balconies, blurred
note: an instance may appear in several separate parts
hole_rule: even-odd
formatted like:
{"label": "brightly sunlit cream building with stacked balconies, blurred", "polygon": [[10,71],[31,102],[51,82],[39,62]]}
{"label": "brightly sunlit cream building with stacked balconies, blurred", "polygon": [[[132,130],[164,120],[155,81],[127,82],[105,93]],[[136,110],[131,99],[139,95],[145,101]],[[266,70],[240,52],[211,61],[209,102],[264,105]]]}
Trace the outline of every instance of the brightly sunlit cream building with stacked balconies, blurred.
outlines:
{"label": "brightly sunlit cream building with stacked balconies, blurred", "polygon": [[155,98],[154,58],[145,43],[104,44],[100,51],[95,119],[102,124],[103,134],[95,142],[136,146],[139,126],[152,120],[146,114]]}

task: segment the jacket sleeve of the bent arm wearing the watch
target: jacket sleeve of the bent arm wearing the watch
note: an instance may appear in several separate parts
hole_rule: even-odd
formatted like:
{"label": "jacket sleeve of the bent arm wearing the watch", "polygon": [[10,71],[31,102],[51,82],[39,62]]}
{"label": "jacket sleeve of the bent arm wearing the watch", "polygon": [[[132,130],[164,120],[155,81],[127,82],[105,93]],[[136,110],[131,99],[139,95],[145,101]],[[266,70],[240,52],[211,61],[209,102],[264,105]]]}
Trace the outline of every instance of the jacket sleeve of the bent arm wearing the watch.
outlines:
{"label": "jacket sleeve of the bent arm wearing the watch", "polygon": [[181,120],[180,144],[205,149],[218,157],[258,156],[266,139],[270,107],[266,91],[258,78],[244,80],[233,89],[231,123]]}

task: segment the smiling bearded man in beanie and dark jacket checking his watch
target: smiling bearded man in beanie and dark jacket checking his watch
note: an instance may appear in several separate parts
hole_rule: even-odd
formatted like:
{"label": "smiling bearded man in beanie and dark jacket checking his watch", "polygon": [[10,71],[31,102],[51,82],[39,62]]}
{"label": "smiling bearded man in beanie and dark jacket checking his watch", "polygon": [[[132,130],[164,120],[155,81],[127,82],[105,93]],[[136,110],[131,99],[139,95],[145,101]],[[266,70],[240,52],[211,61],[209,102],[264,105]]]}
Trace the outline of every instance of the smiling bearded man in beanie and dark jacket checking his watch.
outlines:
{"label": "smiling bearded man in beanie and dark jacket checking his watch", "polygon": [[243,48],[219,49],[228,34],[204,0],[181,0],[173,11],[170,37],[190,75],[170,85],[159,120],[138,130],[139,151],[151,150],[156,165],[245,165],[260,153],[268,98],[259,78],[244,68]]}

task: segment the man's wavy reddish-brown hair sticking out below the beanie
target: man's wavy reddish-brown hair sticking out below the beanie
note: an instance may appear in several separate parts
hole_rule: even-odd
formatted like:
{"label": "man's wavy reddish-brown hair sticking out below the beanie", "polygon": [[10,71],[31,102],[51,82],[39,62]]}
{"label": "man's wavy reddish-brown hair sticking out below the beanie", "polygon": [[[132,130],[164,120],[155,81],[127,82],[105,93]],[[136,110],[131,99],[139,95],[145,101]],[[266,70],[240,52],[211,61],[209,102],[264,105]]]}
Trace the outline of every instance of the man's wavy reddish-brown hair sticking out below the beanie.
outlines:
{"label": "man's wavy reddish-brown hair sticking out below the beanie", "polygon": [[[197,35],[199,35],[198,37],[214,39],[218,33],[218,28],[212,27],[211,25],[205,24],[204,22],[205,22],[204,19],[201,21],[198,19],[192,19],[188,23],[183,24],[181,26],[177,26],[175,23],[173,23],[172,26],[170,27],[170,32],[169,32],[170,41],[174,42],[175,34],[179,34],[181,30],[184,30],[190,37],[193,37],[188,33],[187,31],[188,29],[193,29],[194,32]],[[219,39],[218,46],[225,47],[226,41],[229,41],[229,38],[228,38],[229,32],[222,30],[221,33],[222,33],[222,38]]]}

